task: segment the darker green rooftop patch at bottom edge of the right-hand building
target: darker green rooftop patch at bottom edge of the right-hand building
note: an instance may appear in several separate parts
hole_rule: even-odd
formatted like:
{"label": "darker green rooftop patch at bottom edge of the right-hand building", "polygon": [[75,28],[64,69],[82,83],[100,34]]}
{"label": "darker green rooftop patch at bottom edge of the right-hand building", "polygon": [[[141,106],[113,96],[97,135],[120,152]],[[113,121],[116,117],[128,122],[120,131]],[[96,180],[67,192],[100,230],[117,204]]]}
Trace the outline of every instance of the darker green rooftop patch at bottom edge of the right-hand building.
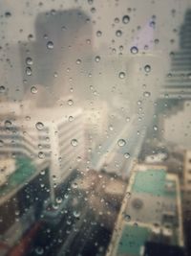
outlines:
{"label": "darker green rooftop patch at bottom edge of the right-hand building", "polygon": [[140,247],[148,240],[150,231],[146,227],[125,225],[117,247],[117,256],[139,256]]}

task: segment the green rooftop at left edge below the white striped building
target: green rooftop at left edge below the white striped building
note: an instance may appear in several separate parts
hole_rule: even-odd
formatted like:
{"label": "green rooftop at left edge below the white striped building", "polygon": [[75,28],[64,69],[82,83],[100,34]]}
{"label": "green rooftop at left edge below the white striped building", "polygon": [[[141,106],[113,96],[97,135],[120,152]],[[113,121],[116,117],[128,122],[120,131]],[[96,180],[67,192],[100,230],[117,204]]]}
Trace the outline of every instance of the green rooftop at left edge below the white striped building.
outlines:
{"label": "green rooftop at left edge below the white striped building", "polygon": [[16,171],[10,175],[6,185],[0,187],[0,197],[5,196],[11,190],[18,187],[20,184],[29,180],[30,176],[35,173],[35,167],[32,165],[31,159],[27,157],[19,157],[15,160]]}

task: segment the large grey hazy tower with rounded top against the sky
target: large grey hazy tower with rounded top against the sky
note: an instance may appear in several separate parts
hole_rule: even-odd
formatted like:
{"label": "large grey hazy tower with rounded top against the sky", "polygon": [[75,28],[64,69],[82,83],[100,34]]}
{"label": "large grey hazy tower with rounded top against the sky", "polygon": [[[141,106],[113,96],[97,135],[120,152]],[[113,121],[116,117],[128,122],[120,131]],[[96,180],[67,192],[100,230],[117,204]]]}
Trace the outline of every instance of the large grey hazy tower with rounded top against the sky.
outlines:
{"label": "large grey hazy tower with rounded top against the sky", "polygon": [[89,16],[75,9],[41,12],[35,29],[33,40],[22,43],[20,49],[25,90],[41,84],[50,91],[50,101],[41,105],[53,105],[71,88],[75,96],[85,97],[92,73]]}

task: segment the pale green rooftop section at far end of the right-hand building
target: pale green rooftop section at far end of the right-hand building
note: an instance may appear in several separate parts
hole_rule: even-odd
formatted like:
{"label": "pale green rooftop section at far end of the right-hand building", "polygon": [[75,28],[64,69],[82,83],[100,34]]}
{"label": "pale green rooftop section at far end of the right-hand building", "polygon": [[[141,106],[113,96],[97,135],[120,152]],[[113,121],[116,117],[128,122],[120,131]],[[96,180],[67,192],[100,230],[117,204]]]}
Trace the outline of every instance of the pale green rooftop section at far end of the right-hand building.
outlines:
{"label": "pale green rooftop section at far end of the right-hand building", "polygon": [[167,189],[166,185],[169,181],[166,180],[165,170],[147,170],[140,171],[135,176],[135,181],[133,184],[133,192],[141,194],[151,194],[156,197],[169,197],[175,196],[175,189]]}

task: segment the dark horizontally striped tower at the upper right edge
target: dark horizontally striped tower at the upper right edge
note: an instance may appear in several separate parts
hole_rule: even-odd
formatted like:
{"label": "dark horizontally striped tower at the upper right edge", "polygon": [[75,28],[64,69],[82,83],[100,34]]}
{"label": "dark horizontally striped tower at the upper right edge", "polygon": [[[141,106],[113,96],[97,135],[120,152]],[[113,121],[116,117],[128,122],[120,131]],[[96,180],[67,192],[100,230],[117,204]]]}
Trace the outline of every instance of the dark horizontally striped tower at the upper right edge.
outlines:
{"label": "dark horizontally striped tower at the upper right edge", "polygon": [[180,50],[171,53],[171,70],[167,75],[161,97],[191,99],[191,10],[184,16],[180,28]]}

